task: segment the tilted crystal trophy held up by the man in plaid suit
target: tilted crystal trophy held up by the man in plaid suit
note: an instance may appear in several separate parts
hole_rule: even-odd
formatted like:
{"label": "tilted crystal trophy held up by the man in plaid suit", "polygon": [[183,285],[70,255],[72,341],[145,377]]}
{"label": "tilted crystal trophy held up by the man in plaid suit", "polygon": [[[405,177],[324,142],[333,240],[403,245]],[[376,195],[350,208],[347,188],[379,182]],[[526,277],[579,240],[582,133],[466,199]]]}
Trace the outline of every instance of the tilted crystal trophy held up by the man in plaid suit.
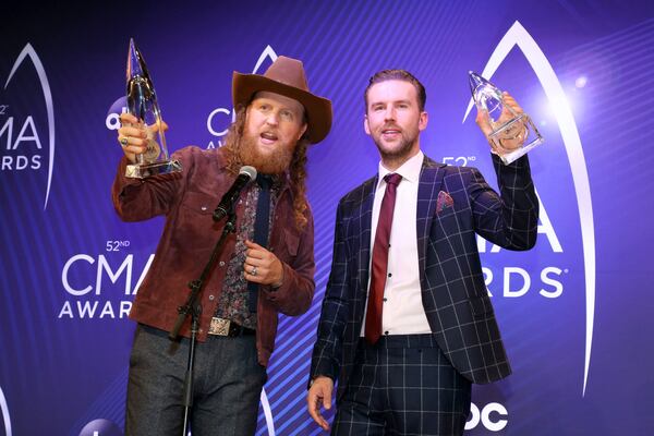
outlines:
{"label": "tilted crystal trophy held up by the man in plaid suit", "polygon": [[505,105],[497,86],[472,71],[469,74],[472,98],[477,109],[485,110],[493,129],[488,135],[491,147],[505,165],[543,144],[543,136],[526,113],[518,113]]}

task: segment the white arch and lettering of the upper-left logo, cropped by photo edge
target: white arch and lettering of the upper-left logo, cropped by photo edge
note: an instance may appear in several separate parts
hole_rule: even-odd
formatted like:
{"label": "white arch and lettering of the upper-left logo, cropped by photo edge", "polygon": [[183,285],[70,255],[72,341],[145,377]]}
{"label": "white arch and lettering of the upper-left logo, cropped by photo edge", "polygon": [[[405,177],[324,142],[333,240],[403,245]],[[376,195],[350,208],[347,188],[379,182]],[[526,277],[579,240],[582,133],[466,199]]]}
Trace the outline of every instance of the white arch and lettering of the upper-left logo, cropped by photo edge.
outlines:
{"label": "white arch and lettering of the upper-left logo, cropped by photo edge", "polygon": [[[46,101],[46,110],[48,114],[48,140],[49,140],[49,153],[48,153],[48,181],[46,185],[46,198],[44,202],[44,210],[48,206],[48,197],[50,195],[50,185],[52,182],[52,170],[55,162],[55,110],[52,105],[52,94],[50,93],[50,84],[48,83],[48,76],[46,75],[46,70],[38,58],[38,55],[28,43],[21,55],[16,58],[11,72],[9,73],[9,77],[4,83],[4,89],[9,86],[14,73],[19,70],[19,68],[23,64],[23,61],[29,59],[32,64],[34,65],[36,73],[38,75],[38,80],[40,83],[40,88],[44,93],[44,99]],[[8,112],[9,105],[0,106],[0,114],[5,114]],[[14,118],[9,117],[0,126],[0,136],[7,135],[7,150],[17,150],[23,143],[34,143],[37,149],[43,149],[43,144],[39,140],[38,132],[34,125],[34,118],[28,116],[25,121],[22,123],[22,128],[20,133],[17,134],[15,141],[13,141],[13,128],[14,128]],[[16,121],[20,123],[19,121]],[[27,157],[25,155],[4,155],[2,156],[2,170],[22,170],[26,168],[31,169],[39,169],[41,166],[40,155],[32,155]]]}

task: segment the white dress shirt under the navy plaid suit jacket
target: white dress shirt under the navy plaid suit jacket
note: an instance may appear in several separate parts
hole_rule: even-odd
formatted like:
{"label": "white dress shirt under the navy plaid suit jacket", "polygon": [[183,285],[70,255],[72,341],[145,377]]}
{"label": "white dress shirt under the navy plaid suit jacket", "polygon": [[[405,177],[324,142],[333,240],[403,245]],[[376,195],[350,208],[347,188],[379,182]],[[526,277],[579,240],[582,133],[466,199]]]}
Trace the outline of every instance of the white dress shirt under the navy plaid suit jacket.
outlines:
{"label": "white dress shirt under the navy plaid suit jacket", "polygon": [[[388,249],[388,271],[384,288],[384,306],[382,311],[383,335],[417,335],[432,331],[420,290],[420,271],[417,268],[417,235],[415,215],[417,209],[417,185],[424,155],[419,152],[407,160],[396,173],[402,177],[397,187],[396,204],[390,229],[390,247]],[[379,220],[382,199],[386,192],[384,177],[391,171],[379,162],[379,181],[375,190],[373,203],[373,222],[371,227],[371,265],[372,253]],[[368,293],[371,278],[368,277]],[[366,303],[367,312],[367,303]],[[365,330],[365,317],[361,336]]]}

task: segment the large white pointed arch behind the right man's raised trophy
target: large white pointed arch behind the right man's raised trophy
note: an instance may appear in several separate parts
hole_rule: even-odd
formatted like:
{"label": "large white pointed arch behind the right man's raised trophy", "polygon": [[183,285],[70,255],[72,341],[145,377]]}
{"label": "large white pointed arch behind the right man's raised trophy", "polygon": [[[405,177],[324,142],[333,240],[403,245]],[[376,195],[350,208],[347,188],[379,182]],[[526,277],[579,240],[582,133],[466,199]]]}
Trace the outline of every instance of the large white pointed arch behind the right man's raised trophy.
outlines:
{"label": "large white pointed arch behind the right man's raised trophy", "polygon": [[[504,38],[501,38],[495,48],[495,51],[488,59],[482,75],[486,78],[491,78],[514,46],[518,46],[518,48],[522,50],[522,53],[534,70],[534,73],[536,73],[536,77],[538,77],[549,104],[552,107],[556,108],[556,111],[554,112],[572,170],[574,192],[579,205],[586,289],[585,359],[582,390],[582,396],[584,396],[589,378],[589,366],[591,363],[593,323],[595,316],[595,230],[589,173],[585,166],[583,149],[581,147],[581,140],[579,138],[579,132],[577,130],[577,123],[574,122],[574,117],[572,117],[572,110],[570,109],[564,88],[558,81],[554,69],[549,64],[549,61],[545,57],[545,53],[543,53],[543,50],[541,50],[534,38],[532,38],[519,22],[513,23]],[[471,98],[463,121],[465,121],[472,106],[473,101]]]}

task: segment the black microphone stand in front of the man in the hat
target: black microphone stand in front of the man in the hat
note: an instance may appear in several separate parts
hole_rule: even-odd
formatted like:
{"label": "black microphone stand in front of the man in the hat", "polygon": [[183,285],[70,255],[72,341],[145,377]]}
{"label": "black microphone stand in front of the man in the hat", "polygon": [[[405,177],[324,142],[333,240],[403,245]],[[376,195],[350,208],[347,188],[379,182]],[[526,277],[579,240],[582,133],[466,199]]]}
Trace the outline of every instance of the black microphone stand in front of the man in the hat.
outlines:
{"label": "black microphone stand in front of the man in the hat", "polygon": [[191,412],[191,407],[193,405],[193,363],[195,361],[195,342],[197,330],[199,329],[199,315],[202,314],[202,303],[199,300],[199,294],[203,291],[204,282],[211,271],[214,264],[218,259],[218,254],[222,251],[222,245],[227,240],[229,233],[234,233],[237,229],[237,214],[234,214],[233,207],[227,215],[227,222],[222,228],[222,234],[216,245],[214,246],[214,251],[211,252],[211,256],[209,257],[209,262],[202,271],[202,275],[198,279],[191,280],[189,282],[189,288],[191,288],[191,294],[189,295],[189,300],[186,300],[186,304],[180,306],[178,308],[178,318],[168,335],[168,338],[172,341],[177,340],[180,335],[180,329],[182,328],[182,324],[186,320],[186,317],[191,315],[191,343],[189,346],[189,361],[186,363],[186,374],[184,376],[184,426],[182,436],[186,436],[189,434],[189,415]]}

